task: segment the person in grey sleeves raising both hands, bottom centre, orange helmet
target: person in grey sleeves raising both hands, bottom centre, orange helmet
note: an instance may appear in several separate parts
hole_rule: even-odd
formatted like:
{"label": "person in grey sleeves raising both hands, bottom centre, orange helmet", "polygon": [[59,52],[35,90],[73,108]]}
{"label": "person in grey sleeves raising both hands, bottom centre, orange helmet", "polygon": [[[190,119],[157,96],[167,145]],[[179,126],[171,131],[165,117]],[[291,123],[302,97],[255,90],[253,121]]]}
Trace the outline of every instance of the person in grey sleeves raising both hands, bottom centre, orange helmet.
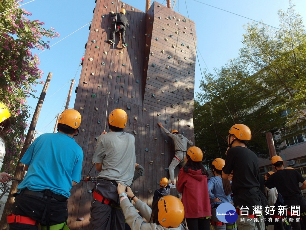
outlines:
{"label": "person in grey sleeves raising both hands, bottom centre, orange helmet", "polygon": [[[133,194],[130,187],[125,187],[118,183],[117,191],[125,220],[132,229],[188,230],[181,224],[184,219],[184,206],[177,197],[164,196],[153,204],[151,210],[147,204]],[[135,202],[135,207],[131,204],[128,197]],[[140,217],[136,209],[140,211],[147,222]]]}

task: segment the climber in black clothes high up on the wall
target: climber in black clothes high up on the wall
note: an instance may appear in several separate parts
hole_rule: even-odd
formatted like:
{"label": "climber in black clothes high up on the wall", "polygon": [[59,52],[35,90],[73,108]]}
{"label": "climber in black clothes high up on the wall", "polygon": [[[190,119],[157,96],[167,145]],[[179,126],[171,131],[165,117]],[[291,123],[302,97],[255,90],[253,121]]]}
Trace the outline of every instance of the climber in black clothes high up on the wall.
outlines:
{"label": "climber in black clothes high up on the wall", "polygon": [[121,9],[120,13],[114,13],[114,11],[110,11],[111,17],[116,17],[116,28],[113,28],[110,33],[110,39],[107,41],[112,45],[115,43],[115,33],[121,32],[121,41],[122,41],[122,48],[125,49],[125,29],[129,27],[129,21],[125,17],[125,9]]}

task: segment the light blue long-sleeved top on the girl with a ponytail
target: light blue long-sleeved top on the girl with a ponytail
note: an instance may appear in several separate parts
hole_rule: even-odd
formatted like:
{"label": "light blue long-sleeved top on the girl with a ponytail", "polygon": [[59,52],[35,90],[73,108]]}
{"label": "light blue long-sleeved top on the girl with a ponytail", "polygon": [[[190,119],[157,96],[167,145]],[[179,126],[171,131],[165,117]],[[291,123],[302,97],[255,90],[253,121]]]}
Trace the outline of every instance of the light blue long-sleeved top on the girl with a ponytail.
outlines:
{"label": "light blue long-sleeved top on the girl with a ponytail", "polygon": [[230,194],[227,196],[225,195],[221,177],[211,177],[208,180],[208,194],[210,200],[214,200],[216,197],[221,200],[218,202],[212,201],[211,208],[224,202],[233,201],[233,199],[230,197]]}

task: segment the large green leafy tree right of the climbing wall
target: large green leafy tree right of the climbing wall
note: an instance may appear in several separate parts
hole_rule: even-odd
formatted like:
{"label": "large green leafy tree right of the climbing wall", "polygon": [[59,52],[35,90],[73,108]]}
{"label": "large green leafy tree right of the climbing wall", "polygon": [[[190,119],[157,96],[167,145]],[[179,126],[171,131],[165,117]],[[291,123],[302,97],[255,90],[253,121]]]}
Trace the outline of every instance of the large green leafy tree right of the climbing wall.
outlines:
{"label": "large green leafy tree right of the climbing wall", "polygon": [[[277,135],[284,127],[305,127],[303,20],[291,2],[285,13],[278,11],[278,16],[280,29],[258,23],[245,26],[239,57],[214,74],[204,71],[203,93],[195,102],[195,138],[209,160],[220,157],[218,145],[224,156],[225,136],[234,123],[249,126],[252,140],[248,148],[263,158],[269,156],[266,132]],[[291,113],[282,116],[284,111]],[[277,146],[282,139],[275,141]]]}

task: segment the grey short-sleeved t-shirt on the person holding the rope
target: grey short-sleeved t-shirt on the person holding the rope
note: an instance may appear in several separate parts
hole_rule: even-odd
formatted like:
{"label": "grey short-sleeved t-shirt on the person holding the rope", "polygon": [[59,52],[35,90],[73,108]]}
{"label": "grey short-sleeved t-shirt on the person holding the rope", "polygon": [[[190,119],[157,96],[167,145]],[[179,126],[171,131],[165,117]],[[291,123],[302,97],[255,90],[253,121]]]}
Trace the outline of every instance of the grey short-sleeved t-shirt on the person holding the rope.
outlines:
{"label": "grey short-sleeved t-shirt on the person holding the rope", "polygon": [[95,163],[103,163],[99,178],[115,180],[124,186],[132,183],[135,170],[135,138],[126,132],[108,132],[99,136]]}

